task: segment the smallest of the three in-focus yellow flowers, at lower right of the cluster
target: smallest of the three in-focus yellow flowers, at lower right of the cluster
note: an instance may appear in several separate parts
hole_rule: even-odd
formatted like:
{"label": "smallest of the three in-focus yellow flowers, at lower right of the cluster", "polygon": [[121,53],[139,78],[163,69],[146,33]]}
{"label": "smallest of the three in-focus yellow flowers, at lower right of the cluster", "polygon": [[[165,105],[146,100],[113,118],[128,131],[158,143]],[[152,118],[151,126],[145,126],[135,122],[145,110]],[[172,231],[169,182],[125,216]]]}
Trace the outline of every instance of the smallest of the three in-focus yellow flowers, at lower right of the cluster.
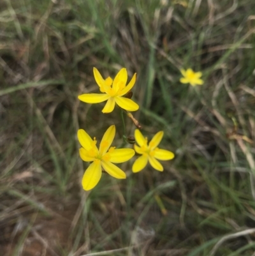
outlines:
{"label": "smallest of the three in-focus yellow flowers, at lower right of the cluster", "polygon": [[154,135],[154,137],[152,138],[152,140],[150,140],[148,145],[148,139],[143,137],[140,130],[138,129],[135,130],[135,139],[137,144],[140,146],[138,147],[137,145],[135,145],[135,151],[138,154],[142,154],[142,156],[138,157],[135,160],[135,163],[133,164],[133,167],[132,167],[133,172],[140,172],[140,170],[145,168],[145,166],[148,163],[148,160],[150,165],[154,169],[162,172],[163,166],[161,165],[161,163],[157,161],[157,159],[171,160],[175,157],[175,155],[171,151],[168,151],[165,149],[159,149],[157,147],[157,145],[161,142],[163,135],[164,135],[164,132],[162,131],[156,133],[156,135]]}

